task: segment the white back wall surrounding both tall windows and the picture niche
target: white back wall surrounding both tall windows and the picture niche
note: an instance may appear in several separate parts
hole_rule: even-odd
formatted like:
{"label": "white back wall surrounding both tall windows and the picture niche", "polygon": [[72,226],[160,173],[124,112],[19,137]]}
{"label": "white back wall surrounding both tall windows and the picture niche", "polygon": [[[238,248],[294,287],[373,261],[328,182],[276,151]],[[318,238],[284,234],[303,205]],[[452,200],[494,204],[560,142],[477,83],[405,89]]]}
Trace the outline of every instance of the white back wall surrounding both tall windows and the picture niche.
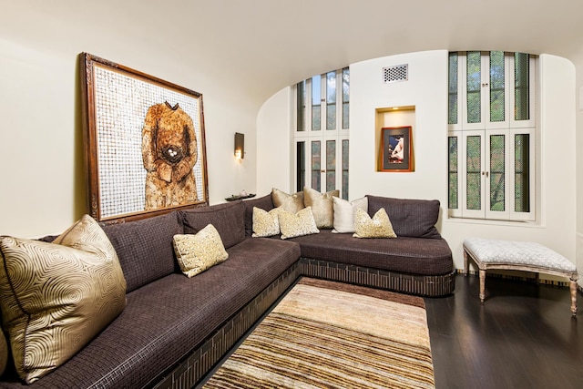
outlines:
{"label": "white back wall surrounding both tall windows and the picture niche", "polygon": [[[540,56],[539,76],[544,82],[537,101],[541,107],[541,138],[537,145],[541,177],[538,222],[479,222],[448,219],[446,215],[447,56],[445,50],[428,51],[375,58],[350,66],[350,199],[374,194],[440,200],[438,228],[452,248],[457,269],[463,269],[462,243],[470,236],[538,241],[575,262],[577,160],[573,64],[557,56]],[[409,80],[383,84],[382,68],[403,64],[409,64]],[[262,107],[258,125],[261,161],[284,160],[287,155],[281,157],[282,153],[291,152],[281,144],[273,149],[274,139],[290,138],[290,120],[285,113],[290,105],[289,93],[285,89]],[[414,172],[378,172],[375,110],[401,106],[415,107]],[[268,132],[269,137],[264,136]],[[273,169],[268,162],[258,164],[258,182],[265,183],[264,189],[271,188],[269,182],[281,182],[283,186],[286,181],[292,181],[289,171]]]}

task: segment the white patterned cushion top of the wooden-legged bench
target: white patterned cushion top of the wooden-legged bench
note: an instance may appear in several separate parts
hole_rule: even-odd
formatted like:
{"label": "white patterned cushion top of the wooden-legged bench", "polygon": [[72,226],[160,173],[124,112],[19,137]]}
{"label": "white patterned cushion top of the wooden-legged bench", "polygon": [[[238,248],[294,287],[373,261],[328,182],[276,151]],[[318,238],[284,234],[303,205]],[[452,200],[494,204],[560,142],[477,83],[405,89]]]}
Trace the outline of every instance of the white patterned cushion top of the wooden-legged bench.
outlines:
{"label": "white patterned cushion top of the wooden-legged bench", "polygon": [[476,261],[487,264],[516,264],[537,266],[559,271],[577,271],[567,258],[533,241],[502,241],[482,238],[467,238],[465,250]]}

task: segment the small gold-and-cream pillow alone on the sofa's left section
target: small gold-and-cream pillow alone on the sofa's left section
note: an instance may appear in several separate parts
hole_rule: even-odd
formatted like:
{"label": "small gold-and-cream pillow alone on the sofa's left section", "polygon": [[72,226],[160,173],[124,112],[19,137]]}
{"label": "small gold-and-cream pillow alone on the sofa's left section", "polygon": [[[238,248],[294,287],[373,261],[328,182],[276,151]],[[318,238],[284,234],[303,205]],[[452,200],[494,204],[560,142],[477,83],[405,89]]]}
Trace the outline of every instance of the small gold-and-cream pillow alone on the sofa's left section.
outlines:
{"label": "small gold-and-cream pillow alone on the sofa's left section", "polygon": [[212,224],[194,235],[174,235],[173,243],[180,270],[189,278],[229,258],[219,231]]}

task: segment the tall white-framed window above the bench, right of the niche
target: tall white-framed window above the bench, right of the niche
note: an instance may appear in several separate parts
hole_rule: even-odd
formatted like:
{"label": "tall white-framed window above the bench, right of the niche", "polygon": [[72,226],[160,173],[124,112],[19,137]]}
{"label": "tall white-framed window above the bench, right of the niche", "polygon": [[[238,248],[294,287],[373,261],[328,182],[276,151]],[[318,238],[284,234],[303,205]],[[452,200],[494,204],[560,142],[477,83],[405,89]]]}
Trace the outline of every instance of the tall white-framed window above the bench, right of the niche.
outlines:
{"label": "tall white-framed window above the bench, right of the niche", "polygon": [[450,217],[535,220],[534,56],[467,51],[448,62]]}

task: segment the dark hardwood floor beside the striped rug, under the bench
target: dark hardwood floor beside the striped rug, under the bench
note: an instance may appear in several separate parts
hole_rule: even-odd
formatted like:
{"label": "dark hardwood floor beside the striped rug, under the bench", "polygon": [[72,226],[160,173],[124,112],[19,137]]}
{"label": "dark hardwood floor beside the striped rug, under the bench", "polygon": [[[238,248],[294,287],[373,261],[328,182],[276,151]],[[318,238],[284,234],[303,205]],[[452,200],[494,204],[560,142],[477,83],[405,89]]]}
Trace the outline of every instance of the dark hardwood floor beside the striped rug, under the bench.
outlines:
{"label": "dark hardwood floor beside the striped rug, under the bench", "polygon": [[424,299],[437,389],[583,388],[583,298],[567,288],[457,275],[455,292]]}

